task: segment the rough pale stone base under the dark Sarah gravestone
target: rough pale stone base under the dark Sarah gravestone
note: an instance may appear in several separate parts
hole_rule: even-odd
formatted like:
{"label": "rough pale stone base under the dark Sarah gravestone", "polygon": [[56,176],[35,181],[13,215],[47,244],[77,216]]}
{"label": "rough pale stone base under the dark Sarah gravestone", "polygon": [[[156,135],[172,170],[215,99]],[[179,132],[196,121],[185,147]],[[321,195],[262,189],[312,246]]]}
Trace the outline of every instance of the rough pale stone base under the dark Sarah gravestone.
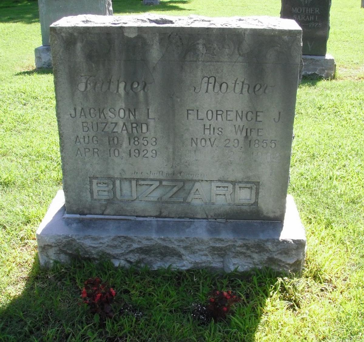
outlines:
{"label": "rough pale stone base under the dark Sarah gravestone", "polygon": [[332,55],[311,56],[302,55],[302,75],[317,75],[326,79],[333,79],[336,70],[335,59]]}

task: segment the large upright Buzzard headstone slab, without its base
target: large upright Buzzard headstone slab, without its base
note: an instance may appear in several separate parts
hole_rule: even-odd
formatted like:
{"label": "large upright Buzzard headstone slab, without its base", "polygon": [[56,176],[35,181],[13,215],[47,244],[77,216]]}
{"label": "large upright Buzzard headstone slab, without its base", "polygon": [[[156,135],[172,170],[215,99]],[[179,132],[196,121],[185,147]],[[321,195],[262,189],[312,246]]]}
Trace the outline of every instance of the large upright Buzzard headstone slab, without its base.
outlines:
{"label": "large upright Buzzard headstone slab, without its base", "polygon": [[284,218],[293,20],[77,16],[51,43],[68,214]]}

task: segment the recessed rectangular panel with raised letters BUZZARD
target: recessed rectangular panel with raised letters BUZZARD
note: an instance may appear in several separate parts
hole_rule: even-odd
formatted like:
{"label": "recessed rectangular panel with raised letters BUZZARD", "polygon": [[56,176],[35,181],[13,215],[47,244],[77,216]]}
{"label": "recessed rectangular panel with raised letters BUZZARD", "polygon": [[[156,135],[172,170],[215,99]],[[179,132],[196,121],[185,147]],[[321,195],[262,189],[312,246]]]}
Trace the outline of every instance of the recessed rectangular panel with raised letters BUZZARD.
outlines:
{"label": "recessed rectangular panel with raised letters BUZZARD", "polygon": [[257,206],[259,182],[90,178],[92,200]]}

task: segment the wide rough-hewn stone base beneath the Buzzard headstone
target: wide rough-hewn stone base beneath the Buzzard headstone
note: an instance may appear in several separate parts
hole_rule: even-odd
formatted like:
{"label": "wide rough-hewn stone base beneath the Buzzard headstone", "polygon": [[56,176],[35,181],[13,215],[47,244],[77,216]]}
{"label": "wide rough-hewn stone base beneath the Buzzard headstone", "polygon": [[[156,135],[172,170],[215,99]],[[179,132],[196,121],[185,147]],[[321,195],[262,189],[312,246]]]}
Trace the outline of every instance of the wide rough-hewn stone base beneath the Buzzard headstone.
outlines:
{"label": "wide rough-hewn stone base beneath the Buzzard headstone", "polygon": [[284,224],[278,221],[162,219],[68,215],[59,191],[37,232],[40,264],[73,257],[110,259],[128,267],[247,271],[270,267],[300,272],[306,237],[293,197]]}

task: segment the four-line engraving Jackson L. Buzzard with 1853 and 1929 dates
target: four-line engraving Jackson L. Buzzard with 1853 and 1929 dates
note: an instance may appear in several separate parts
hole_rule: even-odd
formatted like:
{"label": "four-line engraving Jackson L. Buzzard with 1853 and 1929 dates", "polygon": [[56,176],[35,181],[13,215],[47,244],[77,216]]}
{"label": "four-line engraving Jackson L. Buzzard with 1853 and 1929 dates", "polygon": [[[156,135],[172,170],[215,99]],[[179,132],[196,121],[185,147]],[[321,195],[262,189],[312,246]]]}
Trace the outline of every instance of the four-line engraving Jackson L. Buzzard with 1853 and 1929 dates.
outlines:
{"label": "four-line engraving Jackson L. Buzzard with 1853 and 1929 dates", "polygon": [[150,133],[155,125],[150,108],[75,106],[67,117],[79,127],[73,138],[76,157],[157,158],[159,139]]}

